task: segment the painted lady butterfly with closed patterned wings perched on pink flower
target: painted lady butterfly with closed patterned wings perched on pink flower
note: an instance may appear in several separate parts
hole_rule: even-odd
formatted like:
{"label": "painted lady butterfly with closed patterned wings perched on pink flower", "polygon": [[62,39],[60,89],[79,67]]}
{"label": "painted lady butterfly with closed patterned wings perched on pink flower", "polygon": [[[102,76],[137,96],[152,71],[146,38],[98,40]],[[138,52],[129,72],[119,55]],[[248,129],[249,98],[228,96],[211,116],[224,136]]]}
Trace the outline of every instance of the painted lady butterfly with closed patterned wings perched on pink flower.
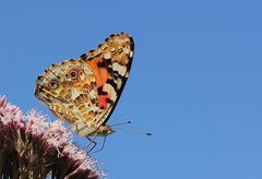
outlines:
{"label": "painted lady butterfly with closed patterned wings perched on pink flower", "polygon": [[82,136],[107,135],[106,124],[129,76],[134,44],[126,33],[106,38],[78,59],[51,64],[35,86],[35,96]]}

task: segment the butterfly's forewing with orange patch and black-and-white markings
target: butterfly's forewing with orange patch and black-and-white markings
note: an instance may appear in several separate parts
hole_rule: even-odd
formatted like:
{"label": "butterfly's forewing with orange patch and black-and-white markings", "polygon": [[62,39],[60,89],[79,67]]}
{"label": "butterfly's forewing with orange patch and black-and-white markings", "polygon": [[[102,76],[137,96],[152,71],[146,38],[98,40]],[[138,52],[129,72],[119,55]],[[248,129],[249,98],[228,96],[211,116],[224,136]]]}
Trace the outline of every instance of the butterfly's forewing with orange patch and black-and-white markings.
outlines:
{"label": "butterfly's forewing with orange patch and black-and-white markings", "polygon": [[98,106],[104,109],[97,124],[105,124],[111,116],[129,76],[134,43],[126,33],[111,35],[96,50],[81,56],[92,67],[96,77]]}

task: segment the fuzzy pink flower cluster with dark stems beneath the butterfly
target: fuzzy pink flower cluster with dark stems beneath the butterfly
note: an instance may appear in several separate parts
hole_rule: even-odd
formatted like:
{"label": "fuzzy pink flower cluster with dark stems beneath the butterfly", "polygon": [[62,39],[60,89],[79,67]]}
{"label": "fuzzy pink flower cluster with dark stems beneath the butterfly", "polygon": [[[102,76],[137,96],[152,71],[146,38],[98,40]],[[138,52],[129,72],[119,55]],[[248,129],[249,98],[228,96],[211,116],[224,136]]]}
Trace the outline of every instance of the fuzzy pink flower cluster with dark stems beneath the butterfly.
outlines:
{"label": "fuzzy pink flower cluster with dark stems beneath the butterfly", "polygon": [[1,178],[104,177],[87,152],[71,141],[61,121],[52,123],[36,110],[23,115],[0,96]]}

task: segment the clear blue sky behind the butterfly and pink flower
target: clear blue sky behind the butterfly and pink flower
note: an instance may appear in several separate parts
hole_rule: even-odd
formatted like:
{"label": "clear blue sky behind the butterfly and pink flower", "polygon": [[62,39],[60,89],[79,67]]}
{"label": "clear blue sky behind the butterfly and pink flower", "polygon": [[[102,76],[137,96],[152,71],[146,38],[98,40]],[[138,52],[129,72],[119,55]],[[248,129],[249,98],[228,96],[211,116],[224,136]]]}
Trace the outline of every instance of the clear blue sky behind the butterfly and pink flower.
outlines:
{"label": "clear blue sky behind the butterfly and pink flower", "polygon": [[[94,155],[108,178],[262,178],[262,3],[255,0],[1,1],[0,94],[37,108],[36,77],[117,32],[135,57]],[[87,141],[79,139],[85,146]]]}

